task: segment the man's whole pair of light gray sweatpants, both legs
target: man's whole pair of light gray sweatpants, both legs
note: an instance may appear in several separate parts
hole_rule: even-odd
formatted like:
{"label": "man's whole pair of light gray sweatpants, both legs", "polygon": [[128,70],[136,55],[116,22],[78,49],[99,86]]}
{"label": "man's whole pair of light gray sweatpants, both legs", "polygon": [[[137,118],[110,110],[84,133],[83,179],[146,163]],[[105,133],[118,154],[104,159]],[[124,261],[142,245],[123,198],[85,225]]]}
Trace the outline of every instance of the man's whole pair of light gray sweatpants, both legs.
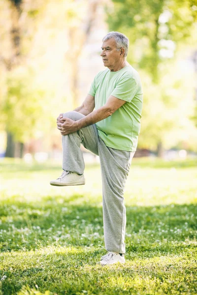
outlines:
{"label": "man's whole pair of light gray sweatpants, both legs", "polygon": [[[85,116],[72,111],[65,113],[64,117],[76,121]],[[105,248],[107,251],[125,253],[126,207],[123,194],[134,152],[107,147],[99,138],[95,124],[63,135],[62,144],[65,171],[84,173],[81,144],[99,155]]]}

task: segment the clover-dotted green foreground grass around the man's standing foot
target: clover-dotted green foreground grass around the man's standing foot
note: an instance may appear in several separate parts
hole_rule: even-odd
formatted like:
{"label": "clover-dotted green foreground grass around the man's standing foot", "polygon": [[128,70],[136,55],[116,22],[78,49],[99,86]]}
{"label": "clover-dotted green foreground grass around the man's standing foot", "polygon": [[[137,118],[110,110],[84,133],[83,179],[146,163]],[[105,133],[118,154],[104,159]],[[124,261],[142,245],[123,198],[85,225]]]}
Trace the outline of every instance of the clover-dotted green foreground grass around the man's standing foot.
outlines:
{"label": "clover-dotted green foreground grass around the man's standing foot", "polygon": [[[0,282],[3,295],[20,290],[21,295],[33,295],[36,286],[41,292],[50,290],[54,295],[84,294],[84,290],[88,294],[139,294],[144,288],[147,292],[143,294],[149,294],[150,288],[156,286],[155,278],[161,286],[165,281],[165,286],[174,288],[168,294],[192,294],[196,267],[192,262],[196,247],[195,205],[127,207],[127,264],[103,268],[97,265],[106,253],[102,208],[69,205],[75,197],[64,204],[57,202],[58,197],[44,198],[39,204],[10,198],[1,204],[0,276],[7,277]],[[182,286],[175,280],[177,284],[173,285],[169,283],[172,275],[178,281],[188,281]],[[35,291],[28,293],[26,289],[30,288]],[[176,293],[177,288],[183,289]]]}

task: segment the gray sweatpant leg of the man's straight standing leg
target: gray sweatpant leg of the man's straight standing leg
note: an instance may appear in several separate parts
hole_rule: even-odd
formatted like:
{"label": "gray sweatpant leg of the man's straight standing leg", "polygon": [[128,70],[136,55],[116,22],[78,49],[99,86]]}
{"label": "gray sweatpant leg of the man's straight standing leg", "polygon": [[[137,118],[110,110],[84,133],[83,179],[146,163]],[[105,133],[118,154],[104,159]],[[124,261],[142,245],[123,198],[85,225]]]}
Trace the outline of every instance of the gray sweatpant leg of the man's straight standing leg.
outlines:
{"label": "gray sweatpant leg of the man's straight standing leg", "polygon": [[107,251],[125,253],[124,188],[134,152],[108,148],[99,140],[104,242]]}

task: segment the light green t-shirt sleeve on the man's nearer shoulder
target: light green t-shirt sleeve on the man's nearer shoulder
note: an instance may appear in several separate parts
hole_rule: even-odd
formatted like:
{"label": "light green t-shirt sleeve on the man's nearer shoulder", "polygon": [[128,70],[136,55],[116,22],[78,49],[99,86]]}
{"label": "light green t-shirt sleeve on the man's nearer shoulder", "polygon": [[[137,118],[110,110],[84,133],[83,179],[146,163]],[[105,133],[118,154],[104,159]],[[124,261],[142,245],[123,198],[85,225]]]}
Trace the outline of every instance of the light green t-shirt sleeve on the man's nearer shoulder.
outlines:
{"label": "light green t-shirt sleeve on the man's nearer shoulder", "polygon": [[131,76],[121,77],[111,95],[131,102],[137,92],[137,84]]}

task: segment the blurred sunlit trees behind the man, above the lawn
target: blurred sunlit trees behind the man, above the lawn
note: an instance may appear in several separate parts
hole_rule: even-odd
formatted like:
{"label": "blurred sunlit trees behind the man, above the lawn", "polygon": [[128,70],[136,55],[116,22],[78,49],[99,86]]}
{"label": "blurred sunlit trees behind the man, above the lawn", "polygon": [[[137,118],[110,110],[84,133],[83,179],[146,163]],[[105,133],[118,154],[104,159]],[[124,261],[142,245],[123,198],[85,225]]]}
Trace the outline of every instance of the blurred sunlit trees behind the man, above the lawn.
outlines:
{"label": "blurred sunlit trees behind the man, above the lawn", "polygon": [[129,37],[128,61],[143,84],[138,148],[197,152],[196,0],[0,0],[5,156],[33,152],[33,139],[40,151],[61,148],[56,118],[103,69],[101,39],[111,30]]}

